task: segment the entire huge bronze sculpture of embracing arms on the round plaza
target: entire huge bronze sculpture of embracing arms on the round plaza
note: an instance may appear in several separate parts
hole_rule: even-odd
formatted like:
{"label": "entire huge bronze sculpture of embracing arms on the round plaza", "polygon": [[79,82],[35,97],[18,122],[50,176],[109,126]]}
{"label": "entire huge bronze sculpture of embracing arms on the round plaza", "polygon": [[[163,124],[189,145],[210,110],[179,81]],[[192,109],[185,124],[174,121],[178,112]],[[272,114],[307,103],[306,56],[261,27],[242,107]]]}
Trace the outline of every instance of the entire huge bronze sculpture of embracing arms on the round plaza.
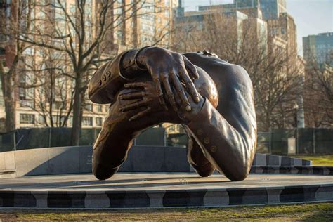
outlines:
{"label": "entire huge bronze sculpture of embracing arms on the round plaza", "polygon": [[200,176],[216,169],[241,181],[249,174],[256,115],[252,82],[238,65],[207,51],[126,51],[93,74],[89,98],[111,103],[93,147],[93,174],[100,180],[117,172],[133,138],[162,122],[183,124],[188,160]]}

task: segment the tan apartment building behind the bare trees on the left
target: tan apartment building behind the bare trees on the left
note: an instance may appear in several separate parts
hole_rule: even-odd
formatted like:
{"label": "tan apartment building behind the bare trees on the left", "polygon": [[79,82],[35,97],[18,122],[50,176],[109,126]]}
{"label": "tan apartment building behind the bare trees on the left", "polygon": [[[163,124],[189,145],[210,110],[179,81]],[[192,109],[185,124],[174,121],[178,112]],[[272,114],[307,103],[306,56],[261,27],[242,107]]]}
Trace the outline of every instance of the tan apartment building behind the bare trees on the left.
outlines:
{"label": "tan apartment building behind the bare trees on the left", "polygon": [[[40,1],[41,5],[45,4],[45,1]],[[58,32],[63,32],[64,35],[74,32],[70,30],[70,27],[66,25],[63,10],[60,10],[60,6],[53,7],[34,8],[32,16],[39,22],[38,27],[44,29],[47,32],[54,32],[57,27]],[[72,15],[74,18],[77,15],[77,1],[63,1],[65,11]],[[6,22],[8,24],[16,17],[15,5],[17,1],[1,1],[0,11],[6,15]],[[171,44],[171,28],[174,22],[174,8],[178,5],[178,1],[175,0],[147,0],[147,1],[135,1],[135,0],[119,0],[115,1],[110,7],[107,15],[108,22],[112,23],[112,27],[107,33],[107,37],[103,42],[105,47],[100,53],[102,56],[112,57],[129,48],[138,48],[141,46],[165,46],[168,47]],[[96,24],[96,18],[98,15],[98,7],[100,7],[100,0],[88,0],[86,1],[85,15],[86,24],[85,28],[89,29],[86,33],[87,41],[93,39],[94,34],[98,32],[98,25]],[[43,18],[45,16],[53,16],[55,21],[53,25],[44,24]],[[52,44],[57,44],[53,42]],[[72,44],[74,47],[78,46],[78,42],[66,43],[68,46]],[[11,59],[15,50],[9,50],[15,48],[15,44],[11,39],[0,36],[0,62],[3,63],[4,71],[8,72],[8,68],[11,66]],[[9,53],[11,52],[11,53]],[[55,53],[54,51],[49,53],[40,51],[40,48],[28,48],[24,53],[25,63],[29,63],[34,67],[47,67],[49,63],[58,63],[62,72],[68,72],[72,70],[71,65],[67,63],[70,59],[65,53]],[[24,65],[24,64],[23,64]],[[22,69],[24,70],[24,69]],[[45,75],[45,78],[50,78],[50,73]],[[90,75],[93,74],[91,71]],[[29,85],[34,79],[34,74],[27,72],[16,73],[18,82],[20,85]],[[41,77],[42,74],[39,74]],[[54,81],[52,84],[37,88],[24,88],[17,87],[15,89],[15,122],[17,128],[22,127],[42,127],[42,126],[71,126],[72,125],[72,113],[69,110],[69,103],[71,100],[71,93],[73,87],[73,79],[69,77],[61,76],[56,72],[53,74]],[[52,77],[51,77],[52,78]],[[0,78],[1,81],[1,78]],[[0,82],[1,83],[1,82]],[[50,98],[50,93],[53,93],[51,99],[46,100],[45,97]],[[109,105],[98,105],[90,103],[87,96],[84,100],[84,110],[82,127],[93,128],[100,127],[103,124],[105,117],[107,116],[107,110]],[[4,112],[4,96],[2,91],[0,92],[0,123],[1,126],[6,118]],[[65,123],[65,124],[64,124]]]}

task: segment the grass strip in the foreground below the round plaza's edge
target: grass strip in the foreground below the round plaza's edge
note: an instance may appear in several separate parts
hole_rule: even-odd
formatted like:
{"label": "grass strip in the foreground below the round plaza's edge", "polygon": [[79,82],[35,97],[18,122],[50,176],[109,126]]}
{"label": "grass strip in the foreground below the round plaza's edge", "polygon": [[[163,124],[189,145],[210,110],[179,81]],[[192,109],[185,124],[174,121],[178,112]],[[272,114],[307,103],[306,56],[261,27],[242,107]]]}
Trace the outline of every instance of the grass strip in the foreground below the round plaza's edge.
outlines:
{"label": "grass strip in the foreground below the round plaza's edge", "polygon": [[0,221],[332,221],[333,203],[192,209],[36,210],[0,209]]}

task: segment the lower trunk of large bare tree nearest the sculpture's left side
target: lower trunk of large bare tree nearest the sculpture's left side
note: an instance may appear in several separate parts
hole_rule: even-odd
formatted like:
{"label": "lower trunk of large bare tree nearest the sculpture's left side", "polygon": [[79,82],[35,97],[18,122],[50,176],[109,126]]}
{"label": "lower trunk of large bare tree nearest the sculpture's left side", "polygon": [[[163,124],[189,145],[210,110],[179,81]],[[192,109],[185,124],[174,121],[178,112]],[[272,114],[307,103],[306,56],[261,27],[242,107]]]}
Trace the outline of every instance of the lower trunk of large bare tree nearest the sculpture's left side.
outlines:
{"label": "lower trunk of large bare tree nearest the sculpture's left side", "polygon": [[81,77],[75,80],[74,89],[74,103],[73,103],[73,124],[72,124],[72,136],[71,144],[79,145],[79,133],[81,129],[82,122],[82,96],[81,96]]}

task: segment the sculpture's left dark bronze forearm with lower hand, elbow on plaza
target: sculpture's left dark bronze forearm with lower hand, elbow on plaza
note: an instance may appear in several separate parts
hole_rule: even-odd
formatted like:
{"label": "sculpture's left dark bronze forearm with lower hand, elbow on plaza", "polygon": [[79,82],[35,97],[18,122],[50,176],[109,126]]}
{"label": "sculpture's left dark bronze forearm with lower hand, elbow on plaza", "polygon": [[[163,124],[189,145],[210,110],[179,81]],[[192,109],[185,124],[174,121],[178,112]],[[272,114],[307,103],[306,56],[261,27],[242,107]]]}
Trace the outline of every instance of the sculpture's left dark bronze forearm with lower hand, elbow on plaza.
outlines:
{"label": "sculpture's left dark bronze forearm with lower hand, elbow on plaza", "polygon": [[[138,96],[145,96],[146,93],[149,98],[138,99]],[[132,95],[131,98],[129,98],[129,94]],[[136,87],[136,89],[121,89],[117,95],[119,96],[110,106],[108,117],[93,146],[93,174],[100,180],[110,178],[119,169],[119,166],[126,160],[133,138],[148,127],[165,122],[170,118],[169,112],[160,105],[161,98],[157,96],[155,84],[152,82]],[[122,98],[126,98],[126,100],[122,100]],[[136,110],[130,110],[130,107],[135,104],[140,105],[142,102],[151,105],[154,112],[149,116],[131,120],[133,115],[139,115]],[[122,112],[123,109],[129,111]],[[144,107],[140,107],[139,110],[144,112]]]}

